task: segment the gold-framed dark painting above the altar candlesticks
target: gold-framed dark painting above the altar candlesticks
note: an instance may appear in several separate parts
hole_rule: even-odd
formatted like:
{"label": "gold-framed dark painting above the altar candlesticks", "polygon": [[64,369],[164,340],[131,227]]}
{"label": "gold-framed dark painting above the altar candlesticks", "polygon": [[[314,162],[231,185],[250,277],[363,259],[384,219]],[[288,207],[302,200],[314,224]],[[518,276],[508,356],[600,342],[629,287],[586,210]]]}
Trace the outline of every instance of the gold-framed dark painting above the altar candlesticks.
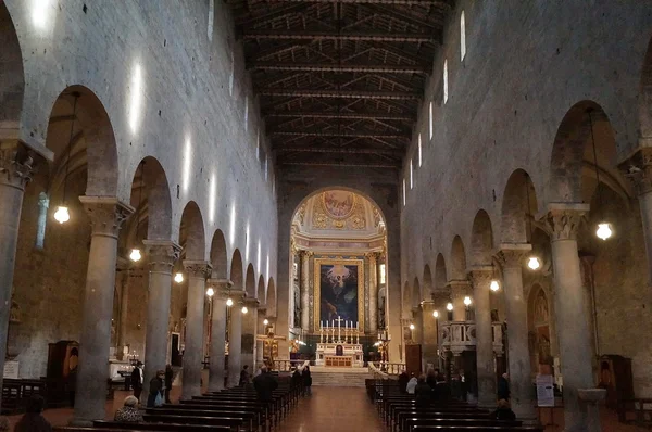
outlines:
{"label": "gold-framed dark painting above the altar candlesticks", "polygon": [[315,258],[314,261],[314,329],[328,321],[337,327],[340,318],[364,332],[364,261]]}

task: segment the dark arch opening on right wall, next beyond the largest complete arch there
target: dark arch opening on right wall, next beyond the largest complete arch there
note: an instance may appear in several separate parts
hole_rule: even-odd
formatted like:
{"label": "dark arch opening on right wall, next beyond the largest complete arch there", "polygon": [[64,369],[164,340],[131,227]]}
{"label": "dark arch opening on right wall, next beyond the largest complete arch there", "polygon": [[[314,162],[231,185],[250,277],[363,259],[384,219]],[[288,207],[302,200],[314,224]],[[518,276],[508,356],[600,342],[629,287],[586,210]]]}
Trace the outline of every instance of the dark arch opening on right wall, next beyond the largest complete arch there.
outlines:
{"label": "dark arch opening on right wall, next beyond the largest complete arch there", "polygon": [[501,243],[527,243],[530,236],[527,217],[532,218],[539,205],[532,180],[524,169],[516,169],[510,176],[501,208]]}

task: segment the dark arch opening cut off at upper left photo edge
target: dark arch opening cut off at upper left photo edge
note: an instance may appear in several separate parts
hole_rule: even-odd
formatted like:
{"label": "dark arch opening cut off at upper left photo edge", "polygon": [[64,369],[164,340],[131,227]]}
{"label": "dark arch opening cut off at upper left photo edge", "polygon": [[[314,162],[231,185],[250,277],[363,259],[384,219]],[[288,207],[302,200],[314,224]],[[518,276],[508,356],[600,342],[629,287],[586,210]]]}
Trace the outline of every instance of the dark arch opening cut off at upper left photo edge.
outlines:
{"label": "dark arch opening cut off at upper left photo edge", "polygon": [[25,92],[25,72],[18,36],[4,2],[0,2],[0,46],[2,47],[0,93],[3,94],[2,103],[0,103],[0,125],[2,125],[4,135],[18,138]]}

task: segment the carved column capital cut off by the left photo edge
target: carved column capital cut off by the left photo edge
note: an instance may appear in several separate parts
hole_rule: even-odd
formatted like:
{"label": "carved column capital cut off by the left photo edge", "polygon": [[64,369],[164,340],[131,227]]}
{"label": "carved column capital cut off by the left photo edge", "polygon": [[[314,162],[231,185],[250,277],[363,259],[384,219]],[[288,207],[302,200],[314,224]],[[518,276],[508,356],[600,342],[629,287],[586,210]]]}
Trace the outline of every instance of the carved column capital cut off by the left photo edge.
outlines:
{"label": "carved column capital cut off by the left photo edge", "polygon": [[0,142],[0,185],[21,190],[32,180],[35,153],[18,140]]}

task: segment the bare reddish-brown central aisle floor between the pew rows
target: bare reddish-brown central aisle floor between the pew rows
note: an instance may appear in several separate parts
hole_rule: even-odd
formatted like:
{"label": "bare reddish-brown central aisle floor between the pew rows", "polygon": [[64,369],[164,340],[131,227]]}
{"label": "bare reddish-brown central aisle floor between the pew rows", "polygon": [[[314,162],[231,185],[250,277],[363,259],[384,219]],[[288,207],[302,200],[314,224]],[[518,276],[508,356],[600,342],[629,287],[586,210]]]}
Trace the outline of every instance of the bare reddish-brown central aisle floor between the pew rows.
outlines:
{"label": "bare reddish-brown central aisle floor between the pew rows", "polygon": [[365,389],[312,387],[279,432],[385,432]]}

